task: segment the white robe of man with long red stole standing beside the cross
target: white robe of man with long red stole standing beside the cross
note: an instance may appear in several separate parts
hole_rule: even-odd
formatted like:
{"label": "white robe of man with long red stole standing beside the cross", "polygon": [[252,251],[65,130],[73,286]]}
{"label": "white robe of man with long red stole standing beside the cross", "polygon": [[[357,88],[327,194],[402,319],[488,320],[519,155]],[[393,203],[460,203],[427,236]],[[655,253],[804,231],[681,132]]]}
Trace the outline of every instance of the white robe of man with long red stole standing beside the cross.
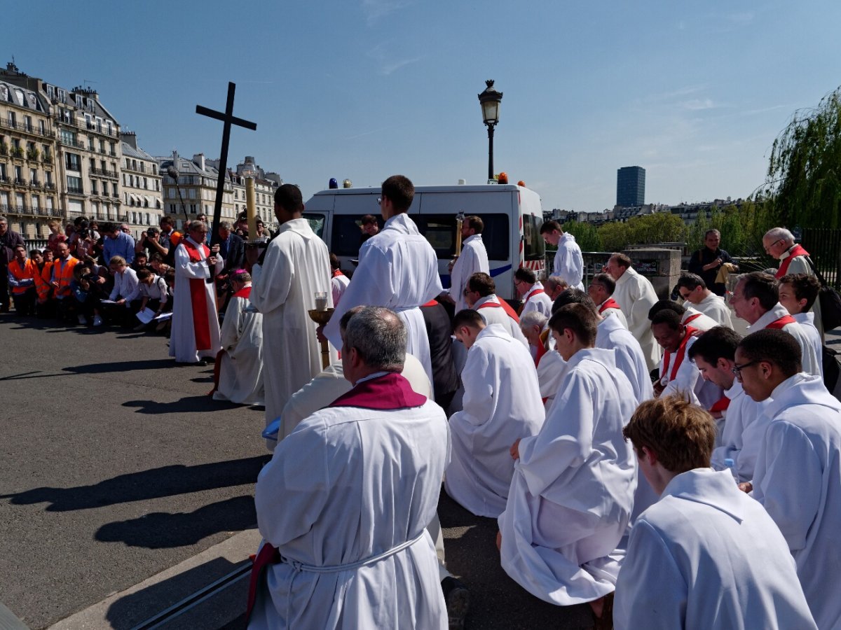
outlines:
{"label": "white robe of man with long red stole standing beside the cross", "polygon": [[[210,269],[205,262],[204,248],[193,239],[187,238],[198,248],[200,262],[190,262],[190,255],[184,244],[179,243],[175,249],[175,291],[172,295],[172,333],[169,339],[169,355],[175,357],[179,363],[196,363],[208,357],[216,358],[222,347],[220,341],[219,316],[216,314],[216,285],[207,282]],[[214,275],[222,273],[224,261],[217,257]],[[198,279],[204,283],[204,299],[208,313],[210,329],[210,348],[196,349],[196,328],[193,324],[193,300],[190,291],[190,280]]]}

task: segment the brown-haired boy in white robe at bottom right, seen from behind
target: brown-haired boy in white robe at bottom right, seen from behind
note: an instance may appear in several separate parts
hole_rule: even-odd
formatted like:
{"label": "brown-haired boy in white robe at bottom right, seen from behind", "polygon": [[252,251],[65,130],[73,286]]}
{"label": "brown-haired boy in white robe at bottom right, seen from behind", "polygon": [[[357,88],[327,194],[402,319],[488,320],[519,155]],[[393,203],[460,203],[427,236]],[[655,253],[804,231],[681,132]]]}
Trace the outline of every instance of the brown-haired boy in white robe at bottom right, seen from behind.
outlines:
{"label": "brown-haired boy in white robe at bottom right, seen from behind", "polygon": [[815,628],[780,530],[709,468],[712,418],[669,396],[644,402],[624,434],[661,498],[632,529],[616,630]]}

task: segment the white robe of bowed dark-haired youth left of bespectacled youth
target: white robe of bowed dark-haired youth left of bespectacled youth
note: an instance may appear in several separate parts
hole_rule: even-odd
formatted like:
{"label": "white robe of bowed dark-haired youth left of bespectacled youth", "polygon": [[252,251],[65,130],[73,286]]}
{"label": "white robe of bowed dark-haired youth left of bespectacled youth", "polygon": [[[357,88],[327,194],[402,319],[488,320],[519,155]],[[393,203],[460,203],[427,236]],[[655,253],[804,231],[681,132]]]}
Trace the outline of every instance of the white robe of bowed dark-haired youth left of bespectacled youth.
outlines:
{"label": "white robe of bowed dark-haired youth left of bespectacled youth", "polygon": [[724,431],[722,445],[712,451],[711,466],[716,470],[727,470],[725,459],[733,459],[733,472],[739,483],[754,478],[754,466],[759,454],[759,444],[764,438],[770,417],[764,413],[770,400],[756,402],[744,393],[742,384],[733,380],[733,386],[724,391],[730,405],[722,415]]}

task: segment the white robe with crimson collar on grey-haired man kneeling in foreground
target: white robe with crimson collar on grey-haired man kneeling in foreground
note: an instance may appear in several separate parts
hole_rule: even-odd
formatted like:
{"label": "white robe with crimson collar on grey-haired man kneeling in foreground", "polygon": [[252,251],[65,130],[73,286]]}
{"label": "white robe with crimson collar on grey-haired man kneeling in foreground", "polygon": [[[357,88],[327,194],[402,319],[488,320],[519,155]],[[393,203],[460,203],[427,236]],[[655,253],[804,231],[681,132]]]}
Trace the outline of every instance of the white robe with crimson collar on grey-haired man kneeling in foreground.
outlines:
{"label": "white robe with crimson collar on grey-haired man kneeling in foreground", "polygon": [[447,628],[426,525],[449,444],[442,408],[400,375],[359,381],[300,423],[257,478],[257,525],[281,561],[249,628]]}

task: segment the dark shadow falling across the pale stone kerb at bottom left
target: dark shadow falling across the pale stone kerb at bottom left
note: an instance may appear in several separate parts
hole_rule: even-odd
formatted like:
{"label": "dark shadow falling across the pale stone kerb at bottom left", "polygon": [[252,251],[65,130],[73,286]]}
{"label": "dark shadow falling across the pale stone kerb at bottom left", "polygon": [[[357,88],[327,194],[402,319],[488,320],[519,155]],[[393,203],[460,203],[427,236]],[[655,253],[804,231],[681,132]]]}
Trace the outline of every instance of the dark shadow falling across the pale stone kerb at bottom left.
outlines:
{"label": "dark shadow falling across the pale stone kerb at bottom left", "polygon": [[[105,613],[105,618],[110,624],[108,627],[114,630],[148,627],[149,624],[144,622],[151,619],[151,617],[192,596],[198,589],[204,588],[204,586],[211,584],[215,580],[220,580],[234,573],[244,564],[250,565],[251,563],[248,561],[246,563],[233,563],[229,559],[214,558],[204,564],[193,567],[193,569],[173,575],[167,578],[167,580],[149,585],[141,591],[120,597],[119,600],[114,601],[111,606],[108,606],[108,612]],[[225,603],[229,603],[232,610],[241,609],[244,612],[247,601],[247,589],[248,579],[238,580],[235,584],[227,587],[225,591],[214,596],[214,599],[225,598],[227,600]],[[203,612],[202,606],[199,605],[195,613],[201,614],[201,612]],[[173,620],[174,626],[165,622],[165,627],[191,627],[193,630],[198,630],[198,628],[202,627],[209,629],[216,627],[212,619],[205,620],[205,623],[199,620],[198,625],[196,625],[193,623],[196,621],[195,619],[188,622],[188,619],[184,617],[186,616],[179,617],[177,621]],[[242,618],[244,621],[245,618]],[[185,622],[189,623],[189,625],[185,625]],[[245,626],[243,625],[242,627],[244,628]]]}

